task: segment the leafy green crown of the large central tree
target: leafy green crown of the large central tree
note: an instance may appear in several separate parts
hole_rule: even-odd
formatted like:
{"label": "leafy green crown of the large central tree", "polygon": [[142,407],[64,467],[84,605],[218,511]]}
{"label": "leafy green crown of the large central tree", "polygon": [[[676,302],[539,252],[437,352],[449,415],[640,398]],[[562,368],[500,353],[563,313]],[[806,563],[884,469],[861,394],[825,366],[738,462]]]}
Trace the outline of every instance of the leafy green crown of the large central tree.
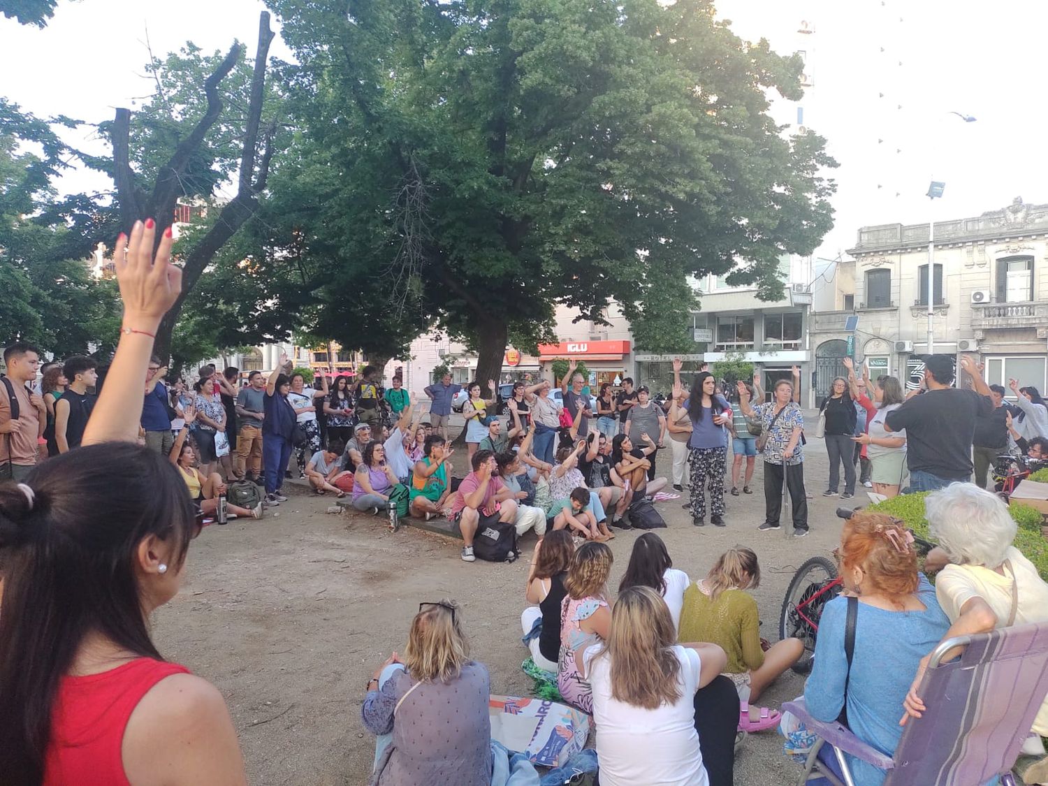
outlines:
{"label": "leafy green crown of the large central tree", "polygon": [[706,0],[270,4],[323,200],[299,232],[326,249],[320,297],[369,318],[343,343],[434,321],[494,378],[558,302],[686,325],[685,276],[777,296],[779,257],[831,226],[823,140],[767,114],[767,91],[801,96],[800,60]]}

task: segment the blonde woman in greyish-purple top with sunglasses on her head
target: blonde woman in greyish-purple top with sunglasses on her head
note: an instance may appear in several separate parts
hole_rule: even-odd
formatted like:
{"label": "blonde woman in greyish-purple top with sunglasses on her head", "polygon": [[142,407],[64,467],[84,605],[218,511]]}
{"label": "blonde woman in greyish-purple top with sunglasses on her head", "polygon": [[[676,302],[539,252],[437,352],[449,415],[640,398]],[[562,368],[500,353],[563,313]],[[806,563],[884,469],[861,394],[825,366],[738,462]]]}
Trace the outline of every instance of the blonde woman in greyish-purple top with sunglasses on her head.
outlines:
{"label": "blonde woman in greyish-purple top with sunglasses on her head", "polygon": [[375,786],[490,786],[492,722],[487,669],[470,659],[462,609],[422,603],[401,661],[393,655],[368,682],[361,705],[373,735]]}

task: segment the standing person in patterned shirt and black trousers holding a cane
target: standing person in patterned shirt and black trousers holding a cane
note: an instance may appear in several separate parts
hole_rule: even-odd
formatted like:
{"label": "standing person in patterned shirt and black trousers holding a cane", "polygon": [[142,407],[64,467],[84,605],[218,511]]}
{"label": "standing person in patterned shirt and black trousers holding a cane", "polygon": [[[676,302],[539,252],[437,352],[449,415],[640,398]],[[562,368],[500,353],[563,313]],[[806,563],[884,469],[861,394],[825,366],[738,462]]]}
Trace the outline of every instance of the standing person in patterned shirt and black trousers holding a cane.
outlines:
{"label": "standing person in patterned shirt and black trousers holding a cane", "polygon": [[782,526],[783,481],[792,503],[793,537],[808,534],[808,498],[804,490],[804,453],[801,435],[804,433],[804,415],[792,401],[793,386],[785,379],[776,383],[771,400],[749,406],[749,389],[745,383],[737,384],[739,406],[747,417],[761,421],[764,457],[764,523],[762,532],[779,531]]}

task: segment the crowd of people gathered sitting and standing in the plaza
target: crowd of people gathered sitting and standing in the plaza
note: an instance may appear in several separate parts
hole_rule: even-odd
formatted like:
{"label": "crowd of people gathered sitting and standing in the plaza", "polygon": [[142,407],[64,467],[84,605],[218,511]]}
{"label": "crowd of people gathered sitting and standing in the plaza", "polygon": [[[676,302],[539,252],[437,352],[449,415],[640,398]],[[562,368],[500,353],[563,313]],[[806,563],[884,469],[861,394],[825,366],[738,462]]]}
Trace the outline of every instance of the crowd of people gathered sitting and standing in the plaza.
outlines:
{"label": "crowd of people gathered sitting and standing in the plaza", "polygon": [[[693,517],[696,524],[704,520],[702,498],[708,494],[716,525],[723,509],[718,498],[723,504],[725,443],[733,427],[738,431],[738,405],[747,434],[750,427],[760,432],[755,436],[764,457],[769,512],[785,483],[793,497],[794,527],[806,529],[805,427],[796,386],[781,381],[770,401],[755,405],[762,394],[745,381],[729,401],[704,374],[685,396],[678,376],[669,417],[650,411],[655,405],[638,388],[620,418],[621,433],[610,434],[587,428],[592,410],[569,374],[574,407],[572,412],[565,389],[567,417],[560,422],[558,414],[558,427],[549,427],[558,439],[552,461],[536,450],[543,421],[538,414],[534,421],[522,417],[520,406],[523,401],[528,413],[543,410],[539,402],[547,386],[525,387],[507,402],[511,425],[505,434],[497,421],[481,422],[484,433],[474,430],[471,472],[453,489],[454,451],[446,436],[418,422],[407,393],[392,400],[381,395],[374,370],[365,370],[351,390],[339,383],[322,386],[318,395],[304,378],[288,374],[285,364],[267,378],[253,374],[240,390],[236,373],[208,369],[193,386],[195,395],[178,381],[170,392],[161,390],[163,367],[151,353],[160,319],[178,296],[180,270],[169,263],[170,231],[155,255],[154,233],[153,221],[136,222],[129,238],[117,240],[114,269],[124,327],[97,397],[88,392],[94,381],[89,358],[68,358],[60,371],[45,369],[43,390],[34,392],[28,386],[38,376],[37,350],[12,345],[4,352],[0,773],[5,783],[74,784],[85,782],[85,773],[96,783],[246,782],[221,694],[160,656],[149,617],[177,593],[190,544],[220,489],[248,472],[254,478],[262,473],[268,503],[279,504],[292,453],[305,447],[311,455],[296,461],[316,490],[345,494],[348,485],[358,509],[401,499],[422,518],[450,509],[465,541],[464,560],[473,559],[470,541],[481,526],[533,528],[542,536],[527,575],[522,631],[534,664],[549,673],[563,699],[592,715],[602,783],[732,784],[739,733],[762,732],[781,720],[776,711],[754,704],[796,660],[801,642],[761,640],[759,610],[749,594],[760,584],[761,569],[757,553],[745,547],[726,551],[693,582],[674,567],[661,539],[646,532],[634,541],[613,596],[608,582],[614,554],[607,541],[614,534],[606,524],[623,526],[631,498],[667,485],[654,477],[655,453],[674,423],[691,425]],[[919,572],[912,533],[900,522],[856,511],[845,524],[836,553],[846,591],[825,606],[805,687],[814,717],[833,720],[847,709],[852,732],[886,754],[898,744],[901,725],[935,701],[921,695],[921,672],[940,641],[1048,621],[1048,585],[1011,545],[1016,524],[1006,506],[968,482],[977,425],[995,416],[998,392],[985,385],[970,358],[962,358],[962,368],[975,390],[949,387],[953,368],[945,359],[927,359],[924,394],[897,401],[898,390],[885,378],[869,407],[850,369],[845,386],[833,391],[831,398],[840,400],[828,405],[835,409],[823,427],[831,436],[847,436],[836,434],[842,422],[845,429],[851,422],[847,405],[863,406],[869,422],[879,423],[864,434],[881,441],[849,439],[886,451],[905,447],[909,488],[933,490],[926,511],[939,547],[924,567],[939,571],[934,589]],[[677,365],[678,375],[679,370]],[[240,418],[238,437],[248,430],[248,446],[243,454],[243,445],[237,449],[236,464],[222,461],[230,458],[228,432],[236,422],[223,392]],[[474,410],[486,411],[488,399],[470,393]],[[334,432],[318,443],[313,428],[303,427],[314,422],[320,436],[321,394],[325,414],[355,418],[334,427],[351,429],[348,439],[347,432]],[[1035,390],[1022,397],[1021,414],[1008,412],[1003,422],[1017,444],[1041,455],[1038,423],[1048,419],[1035,408],[1044,405]],[[608,396],[601,398],[598,423],[611,417],[602,411],[614,412]],[[370,403],[359,406],[362,400]],[[392,429],[383,422],[383,401],[397,415]],[[166,421],[158,417],[161,410]],[[858,411],[852,410],[857,421]],[[313,420],[301,419],[309,414]],[[42,460],[40,440],[50,453],[49,429],[54,455]],[[605,429],[610,432],[607,423]],[[903,433],[905,445],[893,441]],[[831,450],[845,459],[844,441],[838,442]],[[261,463],[254,463],[256,451]],[[901,479],[892,484],[878,473],[880,455],[868,452],[871,478],[880,478],[871,482],[901,486]],[[890,464],[893,472],[896,463]],[[846,489],[848,477],[846,468]],[[110,492],[115,478],[119,494]],[[240,512],[257,517],[261,506]],[[769,516],[762,528],[778,526],[778,508],[774,512],[776,523]],[[845,639],[853,604],[851,660]],[[492,783],[495,760],[505,749],[490,741],[490,676],[471,657],[465,623],[454,601],[420,604],[403,661],[394,653],[369,681],[362,717],[376,735],[373,783]],[[893,647],[885,648],[885,640]],[[1024,750],[1044,755],[1040,736],[1045,734],[1048,702]],[[851,764],[859,786],[882,782],[883,771]]]}

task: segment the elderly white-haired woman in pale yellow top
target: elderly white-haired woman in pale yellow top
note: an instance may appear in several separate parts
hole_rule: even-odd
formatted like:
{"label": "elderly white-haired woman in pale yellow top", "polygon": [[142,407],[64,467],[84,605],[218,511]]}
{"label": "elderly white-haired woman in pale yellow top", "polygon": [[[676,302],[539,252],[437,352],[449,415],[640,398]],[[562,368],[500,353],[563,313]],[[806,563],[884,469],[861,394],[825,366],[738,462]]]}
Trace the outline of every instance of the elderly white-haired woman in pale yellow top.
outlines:
{"label": "elderly white-haired woman in pale yellow top", "polygon": [[[952,623],[943,641],[954,636],[988,633],[997,628],[1048,621],[1048,584],[1011,545],[1016,522],[996,495],[974,483],[954,483],[924,501],[929,530],[938,539],[924,563],[942,568],[936,596]],[[907,716],[919,718],[924,702],[917,687],[927,665],[921,660],[917,679],[903,702]],[[1048,735],[1048,699],[1023,745],[1027,756],[1043,756],[1041,737]]]}

